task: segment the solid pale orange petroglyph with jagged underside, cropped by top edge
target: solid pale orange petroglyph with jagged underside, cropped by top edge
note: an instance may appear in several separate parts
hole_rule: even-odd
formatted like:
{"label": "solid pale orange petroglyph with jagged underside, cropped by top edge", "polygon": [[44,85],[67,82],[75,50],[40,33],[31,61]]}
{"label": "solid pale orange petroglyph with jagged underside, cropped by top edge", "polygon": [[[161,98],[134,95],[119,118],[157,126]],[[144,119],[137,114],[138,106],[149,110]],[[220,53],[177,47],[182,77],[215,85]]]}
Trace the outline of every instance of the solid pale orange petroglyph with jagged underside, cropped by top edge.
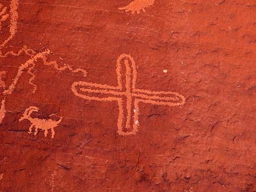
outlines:
{"label": "solid pale orange petroglyph with jagged underside, cropped by top edge", "polygon": [[125,10],[125,12],[131,11],[132,14],[139,14],[141,11],[145,12],[146,8],[150,7],[155,3],[155,0],[135,0],[125,7],[119,8],[120,10]]}

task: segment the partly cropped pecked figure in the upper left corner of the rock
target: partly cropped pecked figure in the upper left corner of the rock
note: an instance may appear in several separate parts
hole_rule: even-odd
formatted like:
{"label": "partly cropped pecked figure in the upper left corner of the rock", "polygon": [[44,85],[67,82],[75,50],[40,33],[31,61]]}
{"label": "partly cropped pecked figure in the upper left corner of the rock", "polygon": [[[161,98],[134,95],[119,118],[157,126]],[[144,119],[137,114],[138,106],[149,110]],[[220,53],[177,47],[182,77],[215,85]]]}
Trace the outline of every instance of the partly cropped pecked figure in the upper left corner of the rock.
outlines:
{"label": "partly cropped pecked figure in the upper left corner of the rock", "polygon": [[[11,0],[10,6],[5,7],[0,3],[0,36],[2,36],[2,25],[3,22],[9,21],[9,34],[5,36],[3,41],[0,42],[0,49],[5,46],[11,39],[13,39],[16,31],[17,31],[17,19],[18,13],[17,8],[19,6],[18,0]],[[1,38],[2,39],[2,38]]]}

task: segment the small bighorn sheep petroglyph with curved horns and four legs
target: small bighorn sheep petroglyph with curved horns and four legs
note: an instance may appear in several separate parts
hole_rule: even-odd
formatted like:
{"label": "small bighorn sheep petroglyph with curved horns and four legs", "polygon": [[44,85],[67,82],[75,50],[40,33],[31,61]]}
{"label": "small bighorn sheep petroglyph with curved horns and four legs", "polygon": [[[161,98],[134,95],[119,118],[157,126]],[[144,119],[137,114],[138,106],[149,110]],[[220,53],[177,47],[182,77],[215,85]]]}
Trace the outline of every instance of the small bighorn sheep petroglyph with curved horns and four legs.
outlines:
{"label": "small bighorn sheep petroglyph with curved horns and four legs", "polygon": [[45,137],[46,137],[48,134],[48,129],[51,129],[52,138],[54,138],[54,135],[55,135],[54,128],[57,127],[59,123],[62,121],[62,117],[60,117],[58,121],[54,121],[52,119],[46,120],[46,119],[38,119],[38,118],[31,117],[31,114],[33,112],[38,112],[38,111],[39,111],[38,107],[31,106],[27,108],[23,116],[19,119],[19,121],[27,119],[31,122],[31,126],[29,127],[29,131],[28,131],[29,134],[32,133],[32,128],[35,127],[34,135],[38,134],[38,129],[42,129],[44,130]]}

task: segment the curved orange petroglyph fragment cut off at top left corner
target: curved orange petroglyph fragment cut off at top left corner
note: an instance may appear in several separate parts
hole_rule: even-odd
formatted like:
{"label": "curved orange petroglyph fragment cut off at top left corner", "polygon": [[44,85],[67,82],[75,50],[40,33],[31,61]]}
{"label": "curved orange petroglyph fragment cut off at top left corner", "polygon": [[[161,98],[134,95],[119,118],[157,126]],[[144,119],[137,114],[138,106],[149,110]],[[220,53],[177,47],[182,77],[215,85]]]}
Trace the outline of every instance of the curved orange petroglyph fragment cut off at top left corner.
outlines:
{"label": "curved orange petroglyph fragment cut off at top left corner", "polygon": [[[0,9],[1,7],[3,7],[3,5],[1,6],[0,4]],[[8,36],[7,39],[5,39],[5,41],[0,45],[0,48],[2,48],[3,46],[5,46],[11,39],[13,39],[16,31],[17,31],[17,19],[18,19],[18,13],[17,13],[17,9],[19,7],[19,1],[18,0],[11,0],[10,2],[10,14],[7,14],[7,7],[4,7],[0,13],[0,30],[1,30],[1,22],[7,20],[7,18],[10,18],[10,25],[9,25],[9,30],[10,30],[10,35]]]}

